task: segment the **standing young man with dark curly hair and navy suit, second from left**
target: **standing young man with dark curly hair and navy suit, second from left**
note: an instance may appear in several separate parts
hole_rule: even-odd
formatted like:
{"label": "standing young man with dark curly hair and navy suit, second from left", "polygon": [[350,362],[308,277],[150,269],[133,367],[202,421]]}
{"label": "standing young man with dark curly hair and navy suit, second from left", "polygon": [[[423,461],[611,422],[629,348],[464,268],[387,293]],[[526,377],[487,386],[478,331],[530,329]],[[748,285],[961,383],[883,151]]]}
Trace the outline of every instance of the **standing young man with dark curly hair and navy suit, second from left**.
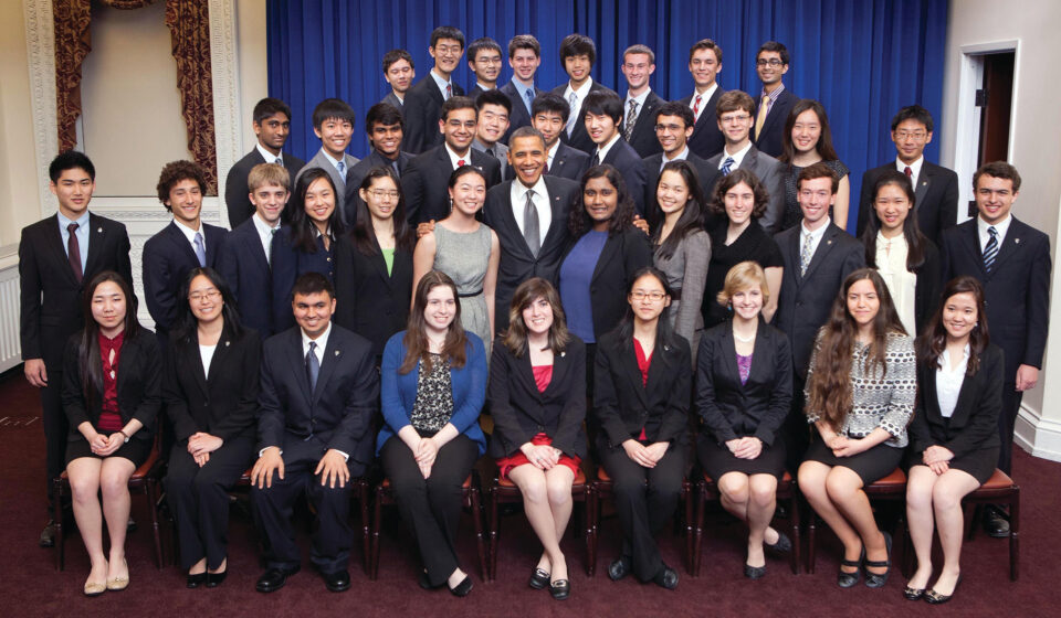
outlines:
{"label": "standing young man with dark curly hair and navy suit, second from left", "polygon": [[178,298],[188,271],[197,266],[216,268],[228,231],[200,219],[207,178],[191,161],[166,163],[158,178],[158,200],[174,213],[161,232],[144,243],[143,280],[147,310],[155,320],[155,334],[162,350],[169,347],[169,331],[177,326]]}

